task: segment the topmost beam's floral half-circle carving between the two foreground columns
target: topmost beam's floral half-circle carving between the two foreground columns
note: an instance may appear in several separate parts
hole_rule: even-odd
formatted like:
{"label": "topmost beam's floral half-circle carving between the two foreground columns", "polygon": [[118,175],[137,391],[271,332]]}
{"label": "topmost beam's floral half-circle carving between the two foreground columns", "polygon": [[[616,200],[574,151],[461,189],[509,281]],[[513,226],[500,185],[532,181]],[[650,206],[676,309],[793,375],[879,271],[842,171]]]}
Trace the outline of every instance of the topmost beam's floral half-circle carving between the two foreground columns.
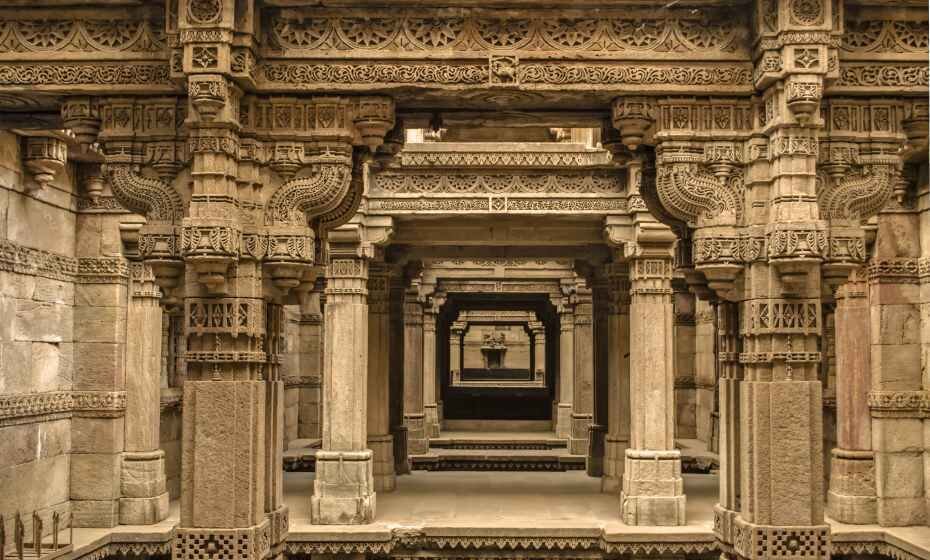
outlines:
{"label": "topmost beam's floral half-circle carving between the two foreground columns", "polygon": [[273,13],[279,49],[528,50],[734,52],[739,42],[729,15],[701,18],[488,17],[484,14],[370,14],[309,17]]}

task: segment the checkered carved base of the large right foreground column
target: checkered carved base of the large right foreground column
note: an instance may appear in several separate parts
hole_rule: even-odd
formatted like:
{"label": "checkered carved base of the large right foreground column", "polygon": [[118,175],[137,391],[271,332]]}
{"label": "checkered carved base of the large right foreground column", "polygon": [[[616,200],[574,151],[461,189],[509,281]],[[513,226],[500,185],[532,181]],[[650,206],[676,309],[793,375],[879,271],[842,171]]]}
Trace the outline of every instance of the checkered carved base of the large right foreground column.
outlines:
{"label": "checkered carved base of the large right foreground column", "polygon": [[818,560],[830,557],[830,526],[806,525],[781,527],[756,525],[734,518],[733,551],[742,558],[803,558]]}

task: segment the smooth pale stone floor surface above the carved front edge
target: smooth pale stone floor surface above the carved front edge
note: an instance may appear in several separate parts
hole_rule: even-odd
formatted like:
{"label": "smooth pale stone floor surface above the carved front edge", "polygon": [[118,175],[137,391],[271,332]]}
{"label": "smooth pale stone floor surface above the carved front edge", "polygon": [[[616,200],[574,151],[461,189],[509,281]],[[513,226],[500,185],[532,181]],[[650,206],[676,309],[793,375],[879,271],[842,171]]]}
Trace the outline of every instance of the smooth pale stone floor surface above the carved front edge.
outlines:
{"label": "smooth pale stone floor surface above the carved front edge", "polygon": [[[313,473],[285,473],[285,502],[294,541],[379,538],[397,528],[443,534],[603,536],[617,540],[712,540],[716,475],[684,475],[688,524],[682,527],[633,527],[620,521],[619,498],[600,492],[600,481],[584,472],[414,472],[398,477],[394,492],[377,497],[377,517],[370,525],[320,526],[309,519]],[[177,501],[171,515],[151,526],[75,529],[80,557],[106,543],[167,542],[178,522]],[[883,528],[831,522],[834,542],[878,540],[930,560],[930,529]]]}

